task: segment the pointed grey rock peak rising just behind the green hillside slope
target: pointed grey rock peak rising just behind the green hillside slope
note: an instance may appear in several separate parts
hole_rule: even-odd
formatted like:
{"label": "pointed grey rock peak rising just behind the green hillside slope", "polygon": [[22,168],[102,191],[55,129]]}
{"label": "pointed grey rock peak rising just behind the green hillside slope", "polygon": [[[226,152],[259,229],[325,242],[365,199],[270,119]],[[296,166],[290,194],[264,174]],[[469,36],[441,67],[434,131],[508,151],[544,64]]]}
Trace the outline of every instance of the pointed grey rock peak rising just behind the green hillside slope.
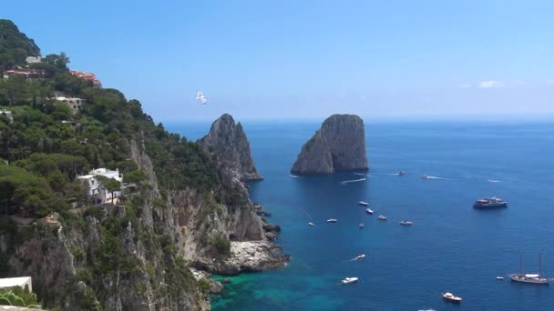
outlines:
{"label": "pointed grey rock peak rising just behind the green hillside slope", "polygon": [[250,143],[241,123],[235,125],[231,115],[221,115],[210,128],[210,133],[200,139],[204,150],[218,156],[224,166],[236,172],[241,181],[260,180],[251,157]]}

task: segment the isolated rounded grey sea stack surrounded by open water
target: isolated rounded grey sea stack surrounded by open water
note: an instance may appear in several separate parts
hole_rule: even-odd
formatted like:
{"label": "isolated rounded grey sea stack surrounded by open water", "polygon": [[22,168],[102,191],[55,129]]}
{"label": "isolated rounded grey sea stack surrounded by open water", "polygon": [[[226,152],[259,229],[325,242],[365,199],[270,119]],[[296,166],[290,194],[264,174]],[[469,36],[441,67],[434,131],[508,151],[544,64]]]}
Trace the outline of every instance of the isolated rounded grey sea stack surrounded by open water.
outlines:
{"label": "isolated rounded grey sea stack surrounded by open water", "polygon": [[364,121],[357,115],[331,115],[303,145],[292,174],[333,174],[338,170],[368,169]]}

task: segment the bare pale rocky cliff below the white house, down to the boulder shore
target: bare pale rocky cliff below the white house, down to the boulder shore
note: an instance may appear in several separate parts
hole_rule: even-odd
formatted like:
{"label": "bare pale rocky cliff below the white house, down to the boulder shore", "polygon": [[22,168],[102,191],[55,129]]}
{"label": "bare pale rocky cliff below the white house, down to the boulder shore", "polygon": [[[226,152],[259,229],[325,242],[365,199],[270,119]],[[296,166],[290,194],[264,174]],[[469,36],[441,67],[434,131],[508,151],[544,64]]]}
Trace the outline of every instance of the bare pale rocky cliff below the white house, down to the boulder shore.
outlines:
{"label": "bare pale rocky cliff below the white house, down to the boulder shore", "polygon": [[[38,221],[17,230],[26,238],[15,245],[9,274],[32,276],[46,307],[206,310],[191,266],[234,275],[285,265],[290,256],[269,242],[273,230],[257,215],[261,207],[229,168],[219,168],[221,186],[211,195],[192,187],[163,192],[148,148],[129,145],[149,185],[131,202],[71,211],[61,229]],[[224,192],[233,204],[214,198]],[[2,231],[0,246],[15,244]]]}

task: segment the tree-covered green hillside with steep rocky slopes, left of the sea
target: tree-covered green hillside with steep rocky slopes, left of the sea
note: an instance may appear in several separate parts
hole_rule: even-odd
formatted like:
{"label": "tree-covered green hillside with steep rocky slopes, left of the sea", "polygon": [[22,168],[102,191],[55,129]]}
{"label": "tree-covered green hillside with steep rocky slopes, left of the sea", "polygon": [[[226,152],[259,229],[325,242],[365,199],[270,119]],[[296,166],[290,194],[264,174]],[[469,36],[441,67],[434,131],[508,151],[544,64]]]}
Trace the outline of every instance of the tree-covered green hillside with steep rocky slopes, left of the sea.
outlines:
{"label": "tree-covered green hillside with steep rocky slopes, left of the sea", "polygon": [[[9,25],[0,21],[1,54],[36,55]],[[0,79],[0,107],[13,115],[0,114],[0,277],[33,276],[38,300],[59,309],[206,308],[190,262],[229,256],[229,236],[262,238],[241,227],[262,226],[248,193],[200,145],[68,63],[47,55],[33,65],[44,77]],[[55,92],[86,104],[73,115]],[[135,192],[93,206],[77,176],[98,167],[119,169]],[[53,213],[59,226],[39,221]]]}

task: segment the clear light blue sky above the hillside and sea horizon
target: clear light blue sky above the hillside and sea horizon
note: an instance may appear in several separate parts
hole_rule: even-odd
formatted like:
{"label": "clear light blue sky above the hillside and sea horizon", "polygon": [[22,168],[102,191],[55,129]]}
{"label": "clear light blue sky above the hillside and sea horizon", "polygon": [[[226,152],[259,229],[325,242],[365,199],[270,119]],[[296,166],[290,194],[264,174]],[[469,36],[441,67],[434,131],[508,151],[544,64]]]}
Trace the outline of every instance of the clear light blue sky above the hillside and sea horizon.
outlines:
{"label": "clear light blue sky above the hillside and sea horizon", "polygon": [[471,119],[554,116],[553,12],[523,0],[2,0],[0,18],[157,121]]}

